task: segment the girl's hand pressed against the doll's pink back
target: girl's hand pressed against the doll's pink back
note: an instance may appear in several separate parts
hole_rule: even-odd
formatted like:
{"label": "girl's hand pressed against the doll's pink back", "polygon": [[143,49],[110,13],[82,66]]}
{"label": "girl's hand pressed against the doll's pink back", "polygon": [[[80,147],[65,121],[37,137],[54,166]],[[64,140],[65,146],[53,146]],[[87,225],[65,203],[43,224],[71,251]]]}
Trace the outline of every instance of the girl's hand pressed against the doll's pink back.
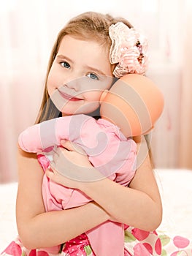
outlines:
{"label": "girl's hand pressed against the doll's pink back", "polygon": [[81,189],[87,181],[97,181],[104,178],[96,170],[82,148],[70,141],[61,140],[61,146],[54,150],[53,162],[46,175],[52,181],[74,189]]}

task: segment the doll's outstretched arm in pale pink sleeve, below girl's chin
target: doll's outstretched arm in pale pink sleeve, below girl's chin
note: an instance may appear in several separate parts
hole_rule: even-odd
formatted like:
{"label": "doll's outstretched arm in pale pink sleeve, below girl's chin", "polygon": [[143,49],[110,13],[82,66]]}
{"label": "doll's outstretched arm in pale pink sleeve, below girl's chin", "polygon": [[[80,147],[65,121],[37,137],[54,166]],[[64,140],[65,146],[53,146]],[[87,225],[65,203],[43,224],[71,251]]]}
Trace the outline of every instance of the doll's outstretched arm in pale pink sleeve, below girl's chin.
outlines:
{"label": "doll's outstretched arm in pale pink sleeve, below girl's chin", "polygon": [[50,146],[60,145],[61,139],[73,141],[80,135],[80,129],[88,118],[85,115],[64,116],[43,121],[28,127],[20,133],[18,143],[27,152],[36,153]]}

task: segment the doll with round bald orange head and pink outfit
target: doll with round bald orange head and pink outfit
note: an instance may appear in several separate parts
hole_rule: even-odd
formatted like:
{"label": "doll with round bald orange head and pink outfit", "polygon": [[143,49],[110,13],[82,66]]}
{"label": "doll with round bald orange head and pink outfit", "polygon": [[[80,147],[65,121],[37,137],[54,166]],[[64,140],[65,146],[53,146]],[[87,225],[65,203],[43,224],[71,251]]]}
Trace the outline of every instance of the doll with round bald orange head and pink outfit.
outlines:
{"label": "doll with round bald orange head and pink outfit", "polygon": [[[113,84],[110,91],[104,91],[101,95],[101,118],[98,120],[81,114],[43,121],[28,127],[20,134],[18,139],[20,147],[27,152],[39,152],[39,162],[42,162],[43,166],[46,163],[46,169],[53,160],[51,152],[54,151],[53,147],[60,146],[61,139],[70,140],[85,151],[91,164],[99,170],[99,174],[128,187],[137,166],[137,146],[134,140],[131,140],[131,135],[140,135],[141,130],[148,131],[153,127],[163,110],[164,101],[161,92],[145,76],[128,74],[123,75],[122,79],[123,81],[119,79]],[[142,97],[146,89],[150,91],[147,99]],[[139,99],[135,94],[137,96],[139,94]],[[153,100],[151,100],[152,95]],[[132,99],[137,105],[137,115],[139,115],[138,105],[141,105],[145,122],[142,123],[142,118],[137,122],[134,105],[131,104]],[[118,125],[115,125],[116,122]],[[79,172],[80,176],[77,176],[78,173],[66,170],[62,161],[59,162],[61,164],[55,165],[56,169],[68,178],[79,181],[96,181],[98,178],[103,178],[102,175],[93,176],[91,170],[86,171],[88,176],[85,176],[85,173],[82,176],[81,172]],[[72,174],[75,176],[72,177]],[[44,179],[43,186],[46,187],[43,190],[46,211],[73,208],[91,201],[91,198],[80,190],[61,187],[47,178]],[[86,235],[96,255],[120,255],[120,252],[124,255],[122,223],[107,221],[99,227],[88,230]],[[110,244],[107,244],[106,240],[109,236]],[[114,246],[112,247],[111,244]]]}

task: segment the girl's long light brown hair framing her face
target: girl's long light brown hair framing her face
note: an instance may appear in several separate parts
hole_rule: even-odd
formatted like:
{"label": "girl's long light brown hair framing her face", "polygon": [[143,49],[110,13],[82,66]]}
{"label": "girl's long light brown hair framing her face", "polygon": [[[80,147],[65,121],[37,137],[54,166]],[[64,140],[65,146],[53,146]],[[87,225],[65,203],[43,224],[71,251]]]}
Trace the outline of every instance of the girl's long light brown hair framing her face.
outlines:
{"label": "girl's long light brown hair framing her face", "polygon": [[[109,28],[112,24],[118,22],[123,22],[126,24],[126,26],[128,26],[128,28],[133,27],[131,23],[129,23],[128,20],[124,18],[113,18],[111,15],[104,15],[99,12],[85,12],[78,15],[77,17],[72,18],[72,20],[69,20],[69,23],[66,23],[64,29],[61,29],[61,31],[58,33],[58,37],[50,54],[50,60],[48,63],[47,75],[45,79],[45,90],[36,123],[61,116],[61,112],[55,107],[49,97],[47,91],[47,78],[55,56],[58,53],[61,40],[64,38],[64,36],[68,34],[77,39],[99,42],[101,46],[104,47],[110,54],[110,46],[112,42],[109,35]],[[114,68],[115,65],[113,64],[112,69]]]}

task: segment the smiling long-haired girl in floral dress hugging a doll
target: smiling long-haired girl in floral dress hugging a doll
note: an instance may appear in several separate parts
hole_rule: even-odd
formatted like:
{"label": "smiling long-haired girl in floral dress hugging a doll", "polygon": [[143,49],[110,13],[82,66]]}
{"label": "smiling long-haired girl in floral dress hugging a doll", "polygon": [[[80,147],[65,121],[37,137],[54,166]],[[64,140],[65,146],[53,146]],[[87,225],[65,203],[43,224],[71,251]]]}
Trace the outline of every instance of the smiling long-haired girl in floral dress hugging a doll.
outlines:
{"label": "smiling long-haired girl in floral dress hugging a doll", "polygon": [[[119,21],[131,28],[126,20],[88,12],[70,20],[61,30],[50,56],[37,123],[74,113],[91,113],[99,107],[101,91],[110,88],[116,66],[109,59],[109,28]],[[84,83],[75,80],[80,77]],[[145,140],[137,143],[146,146]],[[71,143],[64,141],[62,146],[62,164],[67,170],[78,170],[83,175],[86,168],[92,167],[88,157],[75,151]],[[57,151],[53,159],[59,162],[56,156]],[[65,187],[79,189],[93,202],[45,212],[42,181],[46,176]],[[108,178],[96,182],[72,180],[54,168],[45,170],[44,176],[36,154],[18,148],[16,214],[19,238],[2,255],[47,255],[45,247],[60,244],[58,255],[95,255],[85,232],[107,220],[126,224],[124,255],[161,255],[161,241],[153,231],[161,223],[161,197],[148,155],[129,186],[123,187]],[[110,243],[110,238],[106,243]]]}

